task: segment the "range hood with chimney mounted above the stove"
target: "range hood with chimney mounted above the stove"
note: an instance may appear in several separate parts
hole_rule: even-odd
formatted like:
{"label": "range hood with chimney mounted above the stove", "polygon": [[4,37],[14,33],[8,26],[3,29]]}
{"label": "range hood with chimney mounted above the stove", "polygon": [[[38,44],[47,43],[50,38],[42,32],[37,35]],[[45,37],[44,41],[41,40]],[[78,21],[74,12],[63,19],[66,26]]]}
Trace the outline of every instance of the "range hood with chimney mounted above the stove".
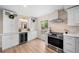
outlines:
{"label": "range hood with chimney mounted above the stove", "polygon": [[[64,9],[57,10],[55,13],[53,13],[54,16],[50,20],[53,23],[63,23],[64,18],[66,18],[66,11]],[[64,18],[63,18],[64,17]]]}

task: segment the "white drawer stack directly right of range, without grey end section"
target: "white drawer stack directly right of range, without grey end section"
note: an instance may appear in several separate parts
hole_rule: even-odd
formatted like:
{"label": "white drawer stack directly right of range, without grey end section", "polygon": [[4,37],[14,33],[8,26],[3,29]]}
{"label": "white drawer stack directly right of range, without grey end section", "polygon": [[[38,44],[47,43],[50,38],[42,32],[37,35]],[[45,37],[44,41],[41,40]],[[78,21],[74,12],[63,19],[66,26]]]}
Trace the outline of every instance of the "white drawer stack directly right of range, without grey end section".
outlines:
{"label": "white drawer stack directly right of range, without grey end section", "polygon": [[75,53],[75,38],[71,36],[64,36],[64,52]]}

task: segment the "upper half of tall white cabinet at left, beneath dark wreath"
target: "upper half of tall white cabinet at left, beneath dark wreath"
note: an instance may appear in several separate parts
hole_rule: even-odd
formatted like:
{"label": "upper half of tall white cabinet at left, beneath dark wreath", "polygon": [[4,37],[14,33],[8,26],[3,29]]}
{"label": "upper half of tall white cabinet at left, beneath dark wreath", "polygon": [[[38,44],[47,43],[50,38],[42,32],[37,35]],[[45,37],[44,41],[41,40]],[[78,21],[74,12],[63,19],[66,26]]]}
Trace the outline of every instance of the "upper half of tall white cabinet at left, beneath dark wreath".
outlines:
{"label": "upper half of tall white cabinet at left, beneath dark wreath", "polygon": [[5,10],[3,11],[3,33],[15,33],[18,32],[17,29],[17,19],[10,19],[9,15],[5,14]]}

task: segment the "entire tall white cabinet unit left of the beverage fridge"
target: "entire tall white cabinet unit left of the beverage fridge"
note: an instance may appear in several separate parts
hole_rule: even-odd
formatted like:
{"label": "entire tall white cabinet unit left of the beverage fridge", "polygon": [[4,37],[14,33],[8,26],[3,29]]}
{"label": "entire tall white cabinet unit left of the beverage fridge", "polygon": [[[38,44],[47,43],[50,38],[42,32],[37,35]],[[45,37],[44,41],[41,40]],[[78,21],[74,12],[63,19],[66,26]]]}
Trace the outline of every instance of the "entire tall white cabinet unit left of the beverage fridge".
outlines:
{"label": "entire tall white cabinet unit left of the beverage fridge", "polygon": [[3,11],[2,49],[11,48],[19,44],[17,19],[10,19]]}

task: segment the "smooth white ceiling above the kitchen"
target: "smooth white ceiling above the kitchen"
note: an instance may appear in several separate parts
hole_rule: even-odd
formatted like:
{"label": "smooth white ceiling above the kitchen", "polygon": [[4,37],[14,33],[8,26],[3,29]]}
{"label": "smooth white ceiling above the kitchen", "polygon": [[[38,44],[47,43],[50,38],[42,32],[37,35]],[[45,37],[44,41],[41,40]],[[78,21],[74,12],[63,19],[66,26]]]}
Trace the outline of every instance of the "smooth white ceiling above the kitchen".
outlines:
{"label": "smooth white ceiling above the kitchen", "polygon": [[0,9],[15,11],[18,15],[39,17],[63,8],[63,5],[0,5]]}

